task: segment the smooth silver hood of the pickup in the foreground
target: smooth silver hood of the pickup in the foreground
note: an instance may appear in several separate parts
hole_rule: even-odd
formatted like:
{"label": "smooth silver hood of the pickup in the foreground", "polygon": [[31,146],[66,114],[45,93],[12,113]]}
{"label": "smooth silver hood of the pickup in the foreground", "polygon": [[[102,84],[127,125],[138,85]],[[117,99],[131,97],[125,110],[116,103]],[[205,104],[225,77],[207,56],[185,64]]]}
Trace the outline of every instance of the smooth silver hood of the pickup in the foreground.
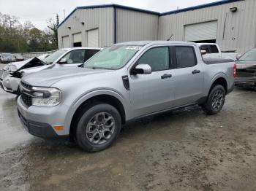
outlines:
{"label": "smooth silver hood of the pickup in the foreground", "polygon": [[[32,86],[50,87],[62,79],[86,77],[88,75],[111,72],[105,69],[86,69],[78,67],[65,67],[61,69],[43,70],[37,73],[29,74],[22,78],[23,82]],[[70,79],[71,81],[71,79]]]}

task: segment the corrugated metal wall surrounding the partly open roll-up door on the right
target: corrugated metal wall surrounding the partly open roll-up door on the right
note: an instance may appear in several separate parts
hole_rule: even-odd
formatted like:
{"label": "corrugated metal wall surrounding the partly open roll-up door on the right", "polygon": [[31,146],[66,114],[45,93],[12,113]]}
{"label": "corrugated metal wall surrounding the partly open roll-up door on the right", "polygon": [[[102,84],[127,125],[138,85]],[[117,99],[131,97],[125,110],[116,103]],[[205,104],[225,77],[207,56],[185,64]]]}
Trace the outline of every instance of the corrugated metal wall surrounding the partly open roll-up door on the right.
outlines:
{"label": "corrugated metal wall surrounding the partly open roll-up door on the right", "polygon": [[[235,13],[231,7],[238,7]],[[217,44],[243,53],[256,45],[256,1],[245,0],[159,17],[158,39],[184,40],[184,26],[218,20]],[[224,29],[225,28],[225,29]]]}

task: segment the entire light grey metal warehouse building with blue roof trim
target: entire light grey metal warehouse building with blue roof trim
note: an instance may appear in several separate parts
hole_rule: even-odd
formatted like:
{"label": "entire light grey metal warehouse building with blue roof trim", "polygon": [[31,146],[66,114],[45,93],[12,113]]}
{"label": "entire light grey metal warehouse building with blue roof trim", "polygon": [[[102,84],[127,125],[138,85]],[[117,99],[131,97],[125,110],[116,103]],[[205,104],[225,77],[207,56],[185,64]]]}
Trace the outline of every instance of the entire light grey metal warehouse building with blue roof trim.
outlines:
{"label": "entire light grey metal warehouse building with blue roof trim", "polygon": [[116,4],[77,7],[59,25],[59,47],[105,47],[133,40],[216,42],[222,51],[256,47],[256,1],[225,0],[171,12]]}

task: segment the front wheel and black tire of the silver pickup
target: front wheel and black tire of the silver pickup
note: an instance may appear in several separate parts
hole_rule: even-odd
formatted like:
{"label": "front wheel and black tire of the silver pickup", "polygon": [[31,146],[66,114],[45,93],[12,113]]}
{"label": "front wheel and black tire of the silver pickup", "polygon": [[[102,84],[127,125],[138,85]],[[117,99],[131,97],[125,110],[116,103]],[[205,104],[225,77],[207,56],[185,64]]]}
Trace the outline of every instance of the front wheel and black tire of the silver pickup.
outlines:
{"label": "front wheel and black tire of the silver pickup", "polygon": [[[99,118],[102,117],[102,122],[97,122]],[[105,117],[108,118],[105,119]],[[107,125],[109,124],[105,125],[105,120],[108,119],[111,120],[110,125],[112,123],[114,123],[114,125],[112,128],[108,127],[107,130]],[[108,120],[108,122],[110,120]],[[89,123],[91,125],[89,125]],[[75,141],[78,146],[86,152],[97,152],[110,147],[110,145],[113,144],[113,142],[118,138],[120,131],[121,117],[117,109],[109,104],[94,104],[88,106],[88,108],[83,111],[83,114],[81,114],[81,117],[78,119],[78,125],[75,132]],[[105,136],[107,134],[108,136]],[[105,139],[108,138],[108,140],[102,139],[102,137]],[[99,143],[96,143],[98,140]]]}

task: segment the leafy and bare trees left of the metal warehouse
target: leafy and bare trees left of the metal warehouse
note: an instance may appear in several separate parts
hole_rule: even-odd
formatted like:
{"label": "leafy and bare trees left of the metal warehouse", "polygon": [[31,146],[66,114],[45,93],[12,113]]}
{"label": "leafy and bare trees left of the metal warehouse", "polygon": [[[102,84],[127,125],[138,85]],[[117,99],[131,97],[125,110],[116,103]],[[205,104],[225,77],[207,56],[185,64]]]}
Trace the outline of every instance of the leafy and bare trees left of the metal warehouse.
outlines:
{"label": "leafy and bare trees left of the metal warehouse", "polygon": [[58,48],[56,20],[47,21],[44,31],[36,28],[31,21],[20,23],[18,17],[0,12],[0,52],[45,52]]}

